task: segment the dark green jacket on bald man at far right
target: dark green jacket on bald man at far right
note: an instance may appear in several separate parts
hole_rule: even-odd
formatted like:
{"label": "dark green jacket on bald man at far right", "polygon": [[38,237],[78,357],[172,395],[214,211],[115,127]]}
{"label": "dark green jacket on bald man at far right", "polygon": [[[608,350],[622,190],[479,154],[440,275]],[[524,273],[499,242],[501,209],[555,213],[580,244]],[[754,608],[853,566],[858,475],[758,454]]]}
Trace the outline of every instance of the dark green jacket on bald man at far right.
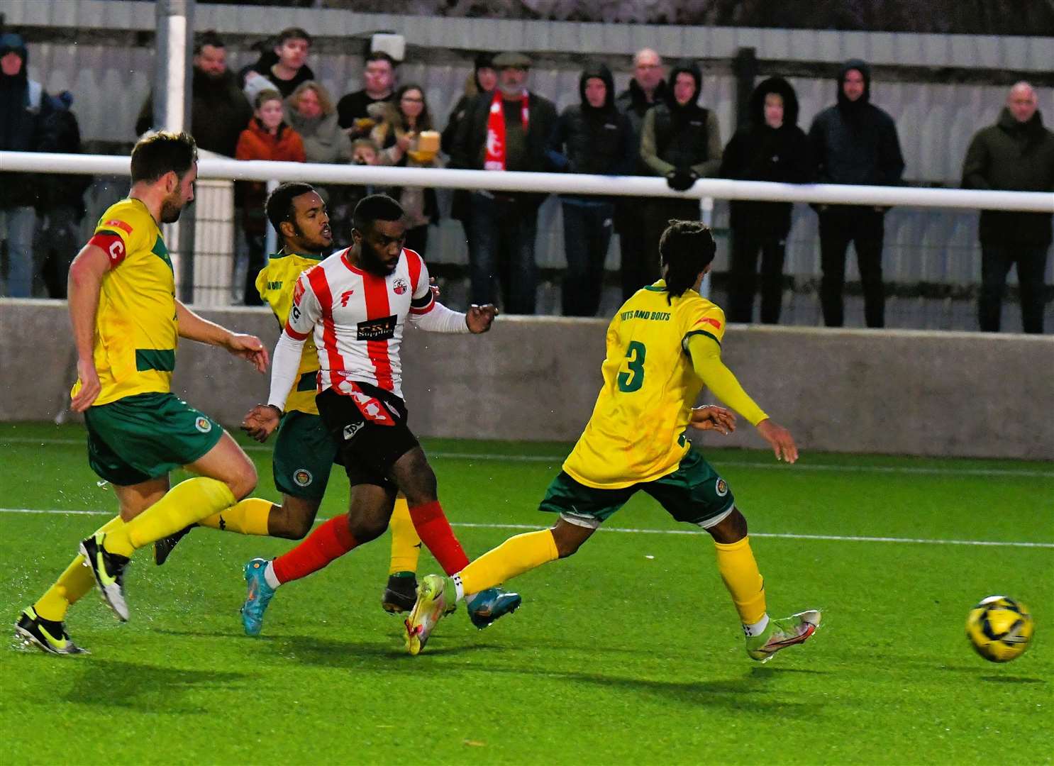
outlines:
{"label": "dark green jacket on bald man at far right", "polygon": [[[1054,133],[1037,111],[1018,122],[1003,107],[999,120],[977,132],[962,162],[963,189],[1054,192]],[[1051,243],[1051,214],[982,210],[982,243]]]}

